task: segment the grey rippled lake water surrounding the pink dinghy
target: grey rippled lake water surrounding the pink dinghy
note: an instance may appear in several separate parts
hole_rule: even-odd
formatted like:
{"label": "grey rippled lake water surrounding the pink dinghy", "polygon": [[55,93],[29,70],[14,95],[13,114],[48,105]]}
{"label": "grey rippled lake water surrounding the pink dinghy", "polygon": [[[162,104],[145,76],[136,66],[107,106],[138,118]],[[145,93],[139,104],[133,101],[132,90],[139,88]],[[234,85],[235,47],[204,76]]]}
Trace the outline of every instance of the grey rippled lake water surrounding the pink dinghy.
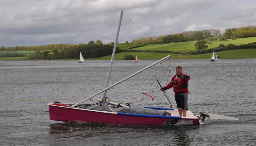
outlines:
{"label": "grey rippled lake water surrounding the pink dinghy", "polygon": [[[1,145],[256,145],[256,59],[169,60],[108,91],[118,102],[139,101],[169,83],[175,67],[191,76],[188,106],[195,115],[211,112],[239,118],[198,126],[125,126],[50,121],[47,103],[74,103],[105,88],[109,60],[0,61]],[[156,62],[115,60],[110,85]],[[169,77],[168,77],[169,75]],[[156,89],[156,90],[155,90]],[[166,94],[176,107],[172,89]],[[93,100],[101,99],[103,94]],[[136,106],[170,107],[163,92]],[[11,100],[11,101],[6,101]],[[25,100],[25,101],[18,101]],[[41,100],[41,101],[32,101]]]}

